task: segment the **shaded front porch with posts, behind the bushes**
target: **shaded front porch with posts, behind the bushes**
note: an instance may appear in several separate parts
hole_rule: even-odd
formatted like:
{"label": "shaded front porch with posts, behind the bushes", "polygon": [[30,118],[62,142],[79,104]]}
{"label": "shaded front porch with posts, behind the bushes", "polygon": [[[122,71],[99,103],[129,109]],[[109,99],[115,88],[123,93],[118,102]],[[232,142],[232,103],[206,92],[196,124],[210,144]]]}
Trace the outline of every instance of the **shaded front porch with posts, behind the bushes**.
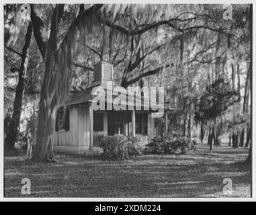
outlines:
{"label": "shaded front porch with posts, behind the bushes", "polygon": [[91,126],[92,140],[90,148],[99,147],[102,136],[124,134],[137,136],[141,144],[146,144],[148,136],[153,137],[155,132],[154,118],[151,112],[142,111],[93,111]]}

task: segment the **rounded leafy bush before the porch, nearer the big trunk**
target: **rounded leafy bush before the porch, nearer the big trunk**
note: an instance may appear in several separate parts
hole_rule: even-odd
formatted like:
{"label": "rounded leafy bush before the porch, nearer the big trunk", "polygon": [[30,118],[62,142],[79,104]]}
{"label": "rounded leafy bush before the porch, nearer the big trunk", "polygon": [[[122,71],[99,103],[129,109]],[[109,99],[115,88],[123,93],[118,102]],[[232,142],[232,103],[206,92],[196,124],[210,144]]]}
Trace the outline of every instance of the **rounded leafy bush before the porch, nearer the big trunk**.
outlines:
{"label": "rounded leafy bush before the porch, nearer the big trunk", "polygon": [[104,136],[100,140],[103,148],[103,158],[107,161],[124,161],[131,155],[142,155],[142,148],[139,146],[140,139],[132,136],[115,134]]}

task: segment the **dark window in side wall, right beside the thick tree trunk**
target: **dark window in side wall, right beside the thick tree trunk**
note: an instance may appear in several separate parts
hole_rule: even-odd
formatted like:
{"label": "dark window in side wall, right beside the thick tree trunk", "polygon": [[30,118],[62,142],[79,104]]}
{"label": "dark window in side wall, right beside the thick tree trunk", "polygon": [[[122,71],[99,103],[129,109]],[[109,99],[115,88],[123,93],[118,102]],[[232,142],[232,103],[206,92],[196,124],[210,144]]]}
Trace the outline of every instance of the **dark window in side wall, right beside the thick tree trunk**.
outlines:
{"label": "dark window in side wall, right beside the thick tree trunk", "polygon": [[69,131],[69,107],[59,107],[56,116],[55,131]]}

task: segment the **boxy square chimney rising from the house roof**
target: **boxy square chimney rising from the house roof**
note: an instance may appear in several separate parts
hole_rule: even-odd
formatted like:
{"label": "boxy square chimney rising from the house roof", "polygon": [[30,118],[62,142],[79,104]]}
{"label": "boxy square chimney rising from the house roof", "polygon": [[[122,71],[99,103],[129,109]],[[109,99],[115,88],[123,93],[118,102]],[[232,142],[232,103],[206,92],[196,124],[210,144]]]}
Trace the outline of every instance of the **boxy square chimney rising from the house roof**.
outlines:
{"label": "boxy square chimney rising from the house roof", "polygon": [[92,85],[106,85],[107,81],[113,81],[113,64],[104,61],[94,64],[94,80]]}

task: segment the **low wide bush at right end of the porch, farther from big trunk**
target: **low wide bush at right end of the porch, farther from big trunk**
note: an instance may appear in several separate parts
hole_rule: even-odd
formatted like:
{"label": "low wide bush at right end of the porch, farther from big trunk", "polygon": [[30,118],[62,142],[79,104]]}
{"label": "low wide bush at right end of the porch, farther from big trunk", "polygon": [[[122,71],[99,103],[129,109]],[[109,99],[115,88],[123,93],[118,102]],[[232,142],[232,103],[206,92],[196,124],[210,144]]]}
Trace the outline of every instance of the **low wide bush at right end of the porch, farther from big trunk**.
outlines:
{"label": "low wide bush at right end of the porch, farther from big trunk", "polygon": [[196,142],[186,137],[157,136],[144,148],[145,154],[185,154],[196,150]]}

